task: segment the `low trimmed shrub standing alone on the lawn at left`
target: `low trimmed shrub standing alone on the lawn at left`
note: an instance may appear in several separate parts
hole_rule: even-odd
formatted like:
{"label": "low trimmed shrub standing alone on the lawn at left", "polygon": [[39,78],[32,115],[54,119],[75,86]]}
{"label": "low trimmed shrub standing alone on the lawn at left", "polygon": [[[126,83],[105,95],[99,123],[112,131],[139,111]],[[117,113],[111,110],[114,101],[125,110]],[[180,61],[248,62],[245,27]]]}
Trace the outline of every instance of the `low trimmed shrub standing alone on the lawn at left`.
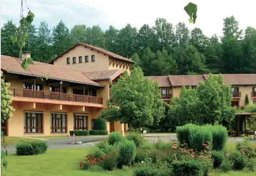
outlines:
{"label": "low trimmed shrub standing alone on the lawn at left", "polygon": [[31,143],[23,142],[16,145],[17,155],[39,155],[46,152],[47,143],[44,141],[35,141]]}

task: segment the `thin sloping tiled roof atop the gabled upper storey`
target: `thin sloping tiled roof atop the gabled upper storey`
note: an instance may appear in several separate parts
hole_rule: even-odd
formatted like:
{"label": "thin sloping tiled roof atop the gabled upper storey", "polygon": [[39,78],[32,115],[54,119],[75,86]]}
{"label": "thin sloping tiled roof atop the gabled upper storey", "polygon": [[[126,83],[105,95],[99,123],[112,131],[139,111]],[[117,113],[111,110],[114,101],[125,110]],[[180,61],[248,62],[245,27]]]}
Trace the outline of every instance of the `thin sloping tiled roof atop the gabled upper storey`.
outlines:
{"label": "thin sloping tiled roof atop the gabled upper storey", "polygon": [[64,51],[64,53],[61,53],[59,56],[56,56],[56,58],[53,58],[49,63],[52,63],[53,61],[55,61],[56,59],[58,59],[59,57],[63,56],[65,53],[69,52],[70,50],[72,50],[73,48],[75,48],[75,47],[77,47],[77,46],[79,46],[79,45],[86,46],[86,47],[88,47],[88,48],[92,48],[92,49],[94,49],[94,50],[96,50],[96,51],[99,51],[99,52],[101,52],[101,53],[104,53],[104,54],[106,54],[106,55],[108,55],[108,56],[111,56],[111,57],[113,57],[113,58],[121,59],[121,60],[123,60],[123,61],[128,61],[128,62],[130,62],[130,63],[136,63],[136,62],[132,61],[132,58],[130,58],[130,59],[129,59],[129,58],[124,58],[123,56],[120,56],[120,55],[118,55],[118,54],[116,54],[116,53],[112,53],[111,51],[107,51],[107,50],[105,50],[104,48],[99,48],[99,47],[97,47],[97,46],[92,46],[92,45],[89,45],[89,44],[87,44],[87,43],[81,43],[81,42],[79,42],[79,43],[77,43],[76,45],[72,46],[72,47],[69,48],[67,51]]}

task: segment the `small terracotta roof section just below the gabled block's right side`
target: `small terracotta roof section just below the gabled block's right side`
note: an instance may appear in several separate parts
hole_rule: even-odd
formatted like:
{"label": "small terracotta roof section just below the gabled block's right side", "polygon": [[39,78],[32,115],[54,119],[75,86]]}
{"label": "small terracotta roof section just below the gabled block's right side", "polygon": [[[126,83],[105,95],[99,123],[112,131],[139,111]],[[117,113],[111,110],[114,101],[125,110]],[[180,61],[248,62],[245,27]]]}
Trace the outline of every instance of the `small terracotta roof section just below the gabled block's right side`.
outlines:
{"label": "small terracotta roof section just below the gabled block's right side", "polygon": [[84,75],[90,78],[92,81],[100,81],[100,80],[108,80],[112,78],[112,76],[116,74],[122,73],[123,70],[110,70],[110,71],[92,71],[92,72],[84,72]]}

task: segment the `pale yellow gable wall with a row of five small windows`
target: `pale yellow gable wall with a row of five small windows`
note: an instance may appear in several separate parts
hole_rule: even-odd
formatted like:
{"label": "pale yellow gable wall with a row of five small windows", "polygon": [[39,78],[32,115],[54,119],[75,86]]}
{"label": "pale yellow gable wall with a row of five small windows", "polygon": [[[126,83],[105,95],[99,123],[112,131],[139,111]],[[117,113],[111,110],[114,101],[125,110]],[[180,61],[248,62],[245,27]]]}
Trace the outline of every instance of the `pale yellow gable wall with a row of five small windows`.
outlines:
{"label": "pale yellow gable wall with a row of five small windows", "polygon": [[[95,56],[95,61],[92,62],[91,56]],[[79,63],[79,56],[82,56],[83,61]],[[85,56],[89,56],[89,62],[85,62]],[[76,57],[77,63],[73,63],[73,57]],[[70,63],[67,64],[67,58],[70,58]],[[104,53],[85,48],[84,46],[77,46],[68,53],[65,53],[60,58],[54,61],[54,65],[67,66],[84,71],[107,71],[109,70],[109,56]]]}

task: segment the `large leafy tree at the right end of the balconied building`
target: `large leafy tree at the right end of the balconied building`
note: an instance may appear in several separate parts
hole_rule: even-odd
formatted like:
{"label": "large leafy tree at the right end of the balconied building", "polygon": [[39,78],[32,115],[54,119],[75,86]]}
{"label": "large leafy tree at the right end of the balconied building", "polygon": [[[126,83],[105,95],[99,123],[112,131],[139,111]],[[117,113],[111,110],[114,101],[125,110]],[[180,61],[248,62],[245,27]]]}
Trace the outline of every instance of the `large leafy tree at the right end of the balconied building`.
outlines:
{"label": "large leafy tree at the right end of the balconied building", "polygon": [[102,110],[101,117],[108,121],[128,123],[129,129],[152,125],[164,117],[164,105],[160,100],[157,83],[143,76],[142,69],[134,67],[131,75],[124,72],[112,85],[112,103]]}

